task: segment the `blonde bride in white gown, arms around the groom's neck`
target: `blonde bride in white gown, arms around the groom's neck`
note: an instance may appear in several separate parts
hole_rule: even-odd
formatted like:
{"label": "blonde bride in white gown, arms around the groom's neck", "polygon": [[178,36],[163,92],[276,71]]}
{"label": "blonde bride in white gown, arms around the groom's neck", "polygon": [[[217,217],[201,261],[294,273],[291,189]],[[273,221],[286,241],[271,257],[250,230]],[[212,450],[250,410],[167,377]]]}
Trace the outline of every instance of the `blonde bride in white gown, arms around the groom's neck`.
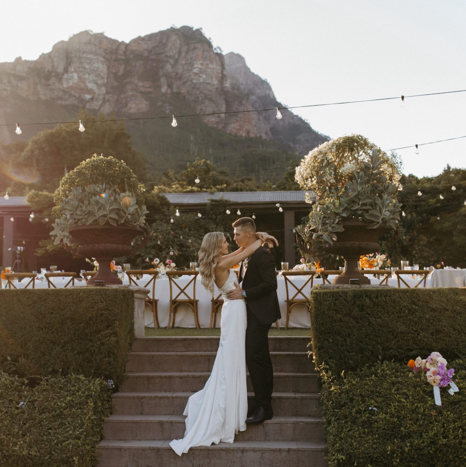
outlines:
{"label": "blonde bride in white gown, arms around the groom's neck", "polygon": [[210,232],[199,250],[199,271],[202,285],[214,292],[214,282],[223,296],[220,346],[214,368],[205,386],[193,394],[186,404],[186,431],[183,439],[173,439],[172,449],[179,456],[191,446],[232,443],[238,431],[246,429],[248,395],[246,389],[246,304],[244,299],[228,300],[226,293],[237,285],[237,276],[230,270],[251,256],[263,242],[276,239],[257,232],[257,240],[247,248],[228,254],[228,241],[221,232]]}

